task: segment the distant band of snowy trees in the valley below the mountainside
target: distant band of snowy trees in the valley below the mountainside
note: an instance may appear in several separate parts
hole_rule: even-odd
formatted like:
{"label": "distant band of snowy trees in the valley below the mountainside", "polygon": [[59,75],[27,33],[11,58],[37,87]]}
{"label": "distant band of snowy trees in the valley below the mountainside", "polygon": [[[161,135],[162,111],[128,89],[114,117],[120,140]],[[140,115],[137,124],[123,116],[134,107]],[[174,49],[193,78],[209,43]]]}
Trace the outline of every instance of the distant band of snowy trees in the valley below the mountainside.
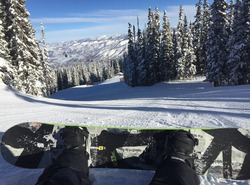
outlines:
{"label": "distant band of snowy trees in the valley below the mountainside", "polygon": [[79,60],[70,66],[61,66],[53,70],[56,81],[56,91],[78,85],[92,85],[112,78],[122,71],[122,58],[110,59],[108,61],[86,61]]}

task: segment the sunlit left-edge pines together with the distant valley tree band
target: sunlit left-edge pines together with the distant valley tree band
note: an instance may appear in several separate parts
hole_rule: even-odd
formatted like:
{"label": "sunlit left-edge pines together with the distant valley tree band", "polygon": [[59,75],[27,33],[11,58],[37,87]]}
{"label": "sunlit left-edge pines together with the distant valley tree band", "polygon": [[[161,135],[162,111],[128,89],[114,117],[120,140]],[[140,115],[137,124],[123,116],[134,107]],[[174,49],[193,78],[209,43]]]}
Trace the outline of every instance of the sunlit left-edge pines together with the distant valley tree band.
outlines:
{"label": "sunlit left-edge pines together with the distant valley tree band", "polygon": [[25,8],[26,0],[0,0],[0,79],[14,89],[36,96],[72,86],[111,78],[122,70],[121,59],[108,61],[79,60],[70,66],[52,68],[41,24],[41,39]]}

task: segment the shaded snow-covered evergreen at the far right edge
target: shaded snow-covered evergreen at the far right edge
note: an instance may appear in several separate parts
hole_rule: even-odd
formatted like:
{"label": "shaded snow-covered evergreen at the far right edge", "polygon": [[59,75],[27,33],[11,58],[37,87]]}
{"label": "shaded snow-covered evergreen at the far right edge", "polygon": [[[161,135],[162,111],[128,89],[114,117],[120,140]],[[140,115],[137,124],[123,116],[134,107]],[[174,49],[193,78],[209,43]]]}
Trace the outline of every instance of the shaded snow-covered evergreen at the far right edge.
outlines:
{"label": "shaded snow-covered evergreen at the far right edge", "polygon": [[250,83],[250,3],[237,0],[234,10],[232,34],[228,47],[230,55],[227,62],[231,84]]}

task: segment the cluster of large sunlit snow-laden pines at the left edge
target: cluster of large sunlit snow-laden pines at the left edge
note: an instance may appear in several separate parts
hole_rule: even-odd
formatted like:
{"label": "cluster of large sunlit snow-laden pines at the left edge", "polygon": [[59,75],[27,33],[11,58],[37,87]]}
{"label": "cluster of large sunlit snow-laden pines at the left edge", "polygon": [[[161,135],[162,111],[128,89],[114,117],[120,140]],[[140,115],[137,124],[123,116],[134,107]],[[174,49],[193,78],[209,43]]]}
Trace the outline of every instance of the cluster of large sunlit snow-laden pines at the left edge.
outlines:
{"label": "cluster of large sunlit snow-laden pines at the left edge", "polygon": [[0,76],[18,91],[48,96],[53,85],[44,29],[41,25],[43,38],[37,41],[25,2],[0,0],[0,57],[6,61]]}

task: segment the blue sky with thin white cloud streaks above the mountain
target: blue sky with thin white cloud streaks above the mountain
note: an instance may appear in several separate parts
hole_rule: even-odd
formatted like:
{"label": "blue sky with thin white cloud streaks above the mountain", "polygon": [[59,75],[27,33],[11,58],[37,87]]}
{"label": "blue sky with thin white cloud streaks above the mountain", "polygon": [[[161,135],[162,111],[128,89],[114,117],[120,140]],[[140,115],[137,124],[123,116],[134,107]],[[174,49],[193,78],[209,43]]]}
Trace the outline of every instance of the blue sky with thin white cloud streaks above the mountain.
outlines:
{"label": "blue sky with thin white cloud streaks above the mountain", "polygon": [[128,22],[140,27],[147,23],[148,8],[167,11],[171,26],[178,22],[182,5],[189,21],[193,21],[198,0],[27,0],[30,21],[40,38],[43,22],[47,43],[127,33]]}

